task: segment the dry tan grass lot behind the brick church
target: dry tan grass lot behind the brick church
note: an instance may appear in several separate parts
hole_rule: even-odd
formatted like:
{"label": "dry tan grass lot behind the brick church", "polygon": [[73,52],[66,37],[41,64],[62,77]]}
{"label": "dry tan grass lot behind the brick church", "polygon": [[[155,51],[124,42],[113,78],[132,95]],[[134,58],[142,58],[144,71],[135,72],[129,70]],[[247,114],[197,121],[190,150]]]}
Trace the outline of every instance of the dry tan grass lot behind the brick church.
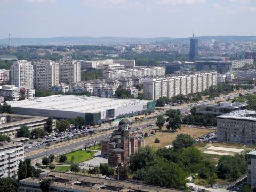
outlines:
{"label": "dry tan grass lot behind the brick church", "polygon": [[[148,131],[150,133],[151,131]],[[209,129],[199,129],[199,128],[190,128],[190,127],[181,127],[181,130],[177,132],[171,132],[170,130],[166,130],[166,127],[163,127],[162,130],[157,130],[155,135],[151,135],[150,137],[145,138],[145,146],[153,146],[156,148],[161,148],[167,145],[171,145],[172,141],[176,138],[176,136],[180,133],[189,134],[193,138],[200,137],[201,135],[214,132],[214,130]],[[154,143],[155,139],[158,138],[160,143]]]}

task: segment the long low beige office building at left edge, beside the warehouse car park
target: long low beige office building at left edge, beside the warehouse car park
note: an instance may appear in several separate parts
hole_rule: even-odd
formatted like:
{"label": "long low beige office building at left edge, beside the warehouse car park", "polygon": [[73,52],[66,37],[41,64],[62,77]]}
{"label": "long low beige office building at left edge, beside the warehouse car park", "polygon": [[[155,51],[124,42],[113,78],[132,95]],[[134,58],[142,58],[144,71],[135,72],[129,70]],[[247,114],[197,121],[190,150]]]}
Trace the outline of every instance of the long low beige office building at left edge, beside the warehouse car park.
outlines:
{"label": "long low beige office building at left edge, beside the warehouse car park", "polygon": [[[35,128],[44,129],[47,125],[47,118],[31,115],[0,114],[0,134],[12,139],[16,137],[22,126],[27,126],[29,131]],[[55,128],[55,121],[53,121],[53,128]]]}

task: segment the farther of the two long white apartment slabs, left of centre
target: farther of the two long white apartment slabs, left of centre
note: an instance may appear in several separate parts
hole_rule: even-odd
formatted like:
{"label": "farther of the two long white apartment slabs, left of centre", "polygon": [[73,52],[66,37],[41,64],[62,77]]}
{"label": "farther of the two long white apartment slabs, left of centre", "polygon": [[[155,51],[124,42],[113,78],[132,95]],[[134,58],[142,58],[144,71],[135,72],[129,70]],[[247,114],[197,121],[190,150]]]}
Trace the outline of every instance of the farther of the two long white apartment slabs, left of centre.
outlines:
{"label": "farther of the two long white apartment slabs, left of centre", "polygon": [[165,67],[131,68],[124,70],[105,70],[103,78],[117,79],[121,77],[147,77],[165,75]]}

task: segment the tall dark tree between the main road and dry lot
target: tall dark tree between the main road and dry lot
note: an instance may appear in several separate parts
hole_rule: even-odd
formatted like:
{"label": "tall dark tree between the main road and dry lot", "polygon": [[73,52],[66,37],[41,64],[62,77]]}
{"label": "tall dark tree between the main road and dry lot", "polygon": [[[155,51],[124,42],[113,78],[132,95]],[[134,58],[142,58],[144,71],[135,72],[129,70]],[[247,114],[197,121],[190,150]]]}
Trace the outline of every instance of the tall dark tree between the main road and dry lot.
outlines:
{"label": "tall dark tree between the main road and dry lot", "polygon": [[167,130],[172,129],[176,131],[180,129],[180,124],[182,123],[183,115],[180,113],[180,110],[169,109],[166,111],[167,115]]}

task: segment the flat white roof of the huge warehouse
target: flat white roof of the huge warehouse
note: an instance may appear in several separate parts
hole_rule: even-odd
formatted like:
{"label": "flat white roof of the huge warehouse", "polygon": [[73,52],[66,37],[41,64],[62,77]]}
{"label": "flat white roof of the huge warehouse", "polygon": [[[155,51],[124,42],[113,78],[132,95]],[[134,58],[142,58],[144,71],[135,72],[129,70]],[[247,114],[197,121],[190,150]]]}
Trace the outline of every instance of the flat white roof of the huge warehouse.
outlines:
{"label": "flat white roof of the huge warehouse", "polygon": [[74,96],[74,95],[52,95],[48,97],[35,98],[23,101],[8,101],[11,107],[48,109],[72,112],[93,113],[97,111],[122,108],[126,106],[136,106],[138,104],[147,105],[147,100],[138,99],[114,99]]}

